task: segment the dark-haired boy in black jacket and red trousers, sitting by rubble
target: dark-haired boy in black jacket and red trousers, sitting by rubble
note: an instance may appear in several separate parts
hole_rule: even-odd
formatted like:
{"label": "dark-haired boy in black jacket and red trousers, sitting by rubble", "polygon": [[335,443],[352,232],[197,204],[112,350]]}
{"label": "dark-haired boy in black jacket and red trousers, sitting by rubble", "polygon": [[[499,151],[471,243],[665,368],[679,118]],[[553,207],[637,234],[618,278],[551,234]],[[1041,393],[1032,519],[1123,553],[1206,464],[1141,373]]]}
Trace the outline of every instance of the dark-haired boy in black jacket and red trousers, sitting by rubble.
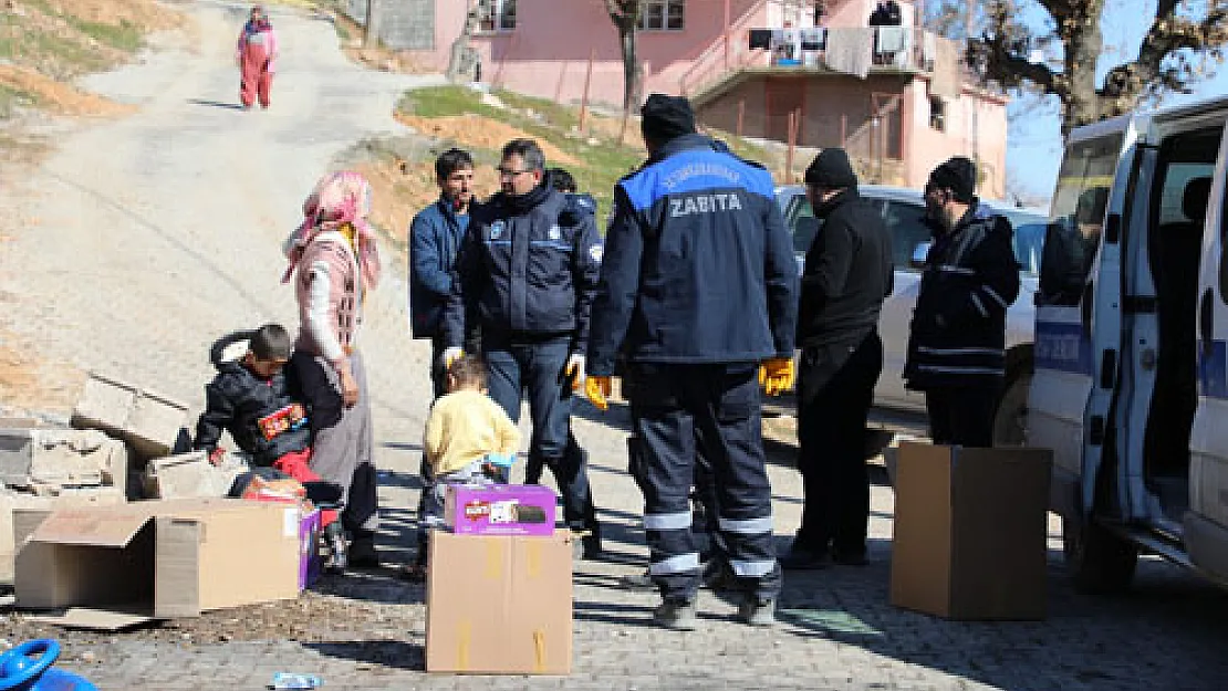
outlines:
{"label": "dark-haired boy in black jacket and red trousers, sitting by rubble", "polygon": [[[222,360],[228,346],[247,341],[247,352],[237,361]],[[209,452],[209,461],[221,461],[225,449],[217,446],[227,431],[255,468],[274,468],[300,482],[321,477],[308,466],[311,428],[300,403],[298,387],[285,369],[291,339],[280,324],[265,324],[254,331],[237,331],[219,339],[209,351],[217,376],[205,385],[205,411],[196,421],[193,447]],[[321,514],[325,534],[341,528],[336,511]],[[330,545],[336,541],[330,540]],[[344,544],[344,540],[340,540]],[[345,555],[334,554],[329,565],[343,569]]]}

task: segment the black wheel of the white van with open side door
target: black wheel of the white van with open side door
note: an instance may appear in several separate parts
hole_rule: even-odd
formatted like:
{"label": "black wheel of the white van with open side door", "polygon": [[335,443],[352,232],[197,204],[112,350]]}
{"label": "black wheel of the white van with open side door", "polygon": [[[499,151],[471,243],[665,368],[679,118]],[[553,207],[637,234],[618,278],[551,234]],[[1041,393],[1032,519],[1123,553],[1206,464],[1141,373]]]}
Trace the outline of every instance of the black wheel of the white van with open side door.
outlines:
{"label": "black wheel of the white van with open side door", "polygon": [[1062,554],[1074,588],[1111,594],[1130,588],[1138,547],[1095,522],[1062,518]]}

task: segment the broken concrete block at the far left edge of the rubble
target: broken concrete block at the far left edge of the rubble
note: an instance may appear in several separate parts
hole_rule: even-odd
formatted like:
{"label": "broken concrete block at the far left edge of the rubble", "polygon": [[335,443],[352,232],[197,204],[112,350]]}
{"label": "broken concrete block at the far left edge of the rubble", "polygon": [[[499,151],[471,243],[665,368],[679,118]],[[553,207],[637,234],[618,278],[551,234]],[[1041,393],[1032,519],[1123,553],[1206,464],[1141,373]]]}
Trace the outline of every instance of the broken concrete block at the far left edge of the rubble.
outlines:
{"label": "broken concrete block at the far left edge of the rubble", "polygon": [[97,430],[0,428],[0,481],[10,487],[128,484],[128,448]]}

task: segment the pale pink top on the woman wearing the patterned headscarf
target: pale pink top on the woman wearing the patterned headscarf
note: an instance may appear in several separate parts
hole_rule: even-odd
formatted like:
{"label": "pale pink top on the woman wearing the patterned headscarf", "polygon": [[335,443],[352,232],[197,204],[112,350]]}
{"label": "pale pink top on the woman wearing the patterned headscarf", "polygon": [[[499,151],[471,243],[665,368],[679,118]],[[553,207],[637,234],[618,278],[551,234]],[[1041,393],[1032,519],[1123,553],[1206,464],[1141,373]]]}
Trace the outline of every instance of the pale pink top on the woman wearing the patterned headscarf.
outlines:
{"label": "pale pink top on the woman wearing the patterned headscarf", "polygon": [[345,236],[322,232],[303,250],[295,276],[296,347],[333,363],[354,351],[362,322],[362,281]]}

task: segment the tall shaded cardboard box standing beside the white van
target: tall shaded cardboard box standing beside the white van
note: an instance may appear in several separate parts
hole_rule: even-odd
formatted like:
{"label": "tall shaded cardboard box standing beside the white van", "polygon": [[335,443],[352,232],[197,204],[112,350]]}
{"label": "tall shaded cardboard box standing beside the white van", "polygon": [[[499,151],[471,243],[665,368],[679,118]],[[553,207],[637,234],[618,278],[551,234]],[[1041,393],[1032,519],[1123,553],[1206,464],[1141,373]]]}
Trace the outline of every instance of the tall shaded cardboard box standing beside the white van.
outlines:
{"label": "tall shaded cardboard box standing beside the white van", "polygon": [[1047,449],[900,444],[892,604],[955,620],[1044,619]]}

